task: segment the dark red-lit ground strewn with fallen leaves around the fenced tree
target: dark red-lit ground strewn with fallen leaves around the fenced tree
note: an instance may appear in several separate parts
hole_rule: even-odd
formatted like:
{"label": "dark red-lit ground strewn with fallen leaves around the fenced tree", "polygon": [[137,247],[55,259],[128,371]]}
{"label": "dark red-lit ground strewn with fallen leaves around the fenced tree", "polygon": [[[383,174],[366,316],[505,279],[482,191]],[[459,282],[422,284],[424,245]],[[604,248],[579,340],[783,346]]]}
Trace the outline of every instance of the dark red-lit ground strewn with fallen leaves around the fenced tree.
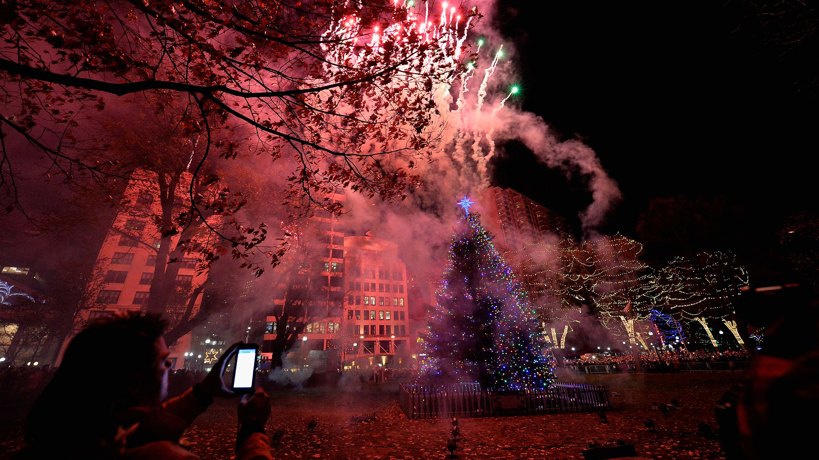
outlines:
{"label": "dark red-lit ground strewn with fallen leaves around the fenced tree", "polygon": [[[597,413],[462,418],[455,453],[459,460],[583,458],[589,443],[610,446],[622,440],[634,444],[643,458],[722,459],[719,442],[700,434],[698,425],[705,422],[717,430],[714,405],[741,378],[740,372],[561,377],[609,386],[614,404],[607,413],[609,423],[601,422]],[[451,420],[409,420],[400,411],[397,395],[392,382],[273,392],[268,433],[282,433],[272,446],[274,458],[450,458],[446,441]],[[652,404],[668,404],[672,398],[681,408],[667,416]],[[233,458],[235,404],[217,401],[185,435],[202,458]],[[646,418],[656,432],[646,428]],[[316,422],[312,430],[311,421]],[[0,458],[10,458],[19,445],[20,424],[19,419],[2,422]]]}

